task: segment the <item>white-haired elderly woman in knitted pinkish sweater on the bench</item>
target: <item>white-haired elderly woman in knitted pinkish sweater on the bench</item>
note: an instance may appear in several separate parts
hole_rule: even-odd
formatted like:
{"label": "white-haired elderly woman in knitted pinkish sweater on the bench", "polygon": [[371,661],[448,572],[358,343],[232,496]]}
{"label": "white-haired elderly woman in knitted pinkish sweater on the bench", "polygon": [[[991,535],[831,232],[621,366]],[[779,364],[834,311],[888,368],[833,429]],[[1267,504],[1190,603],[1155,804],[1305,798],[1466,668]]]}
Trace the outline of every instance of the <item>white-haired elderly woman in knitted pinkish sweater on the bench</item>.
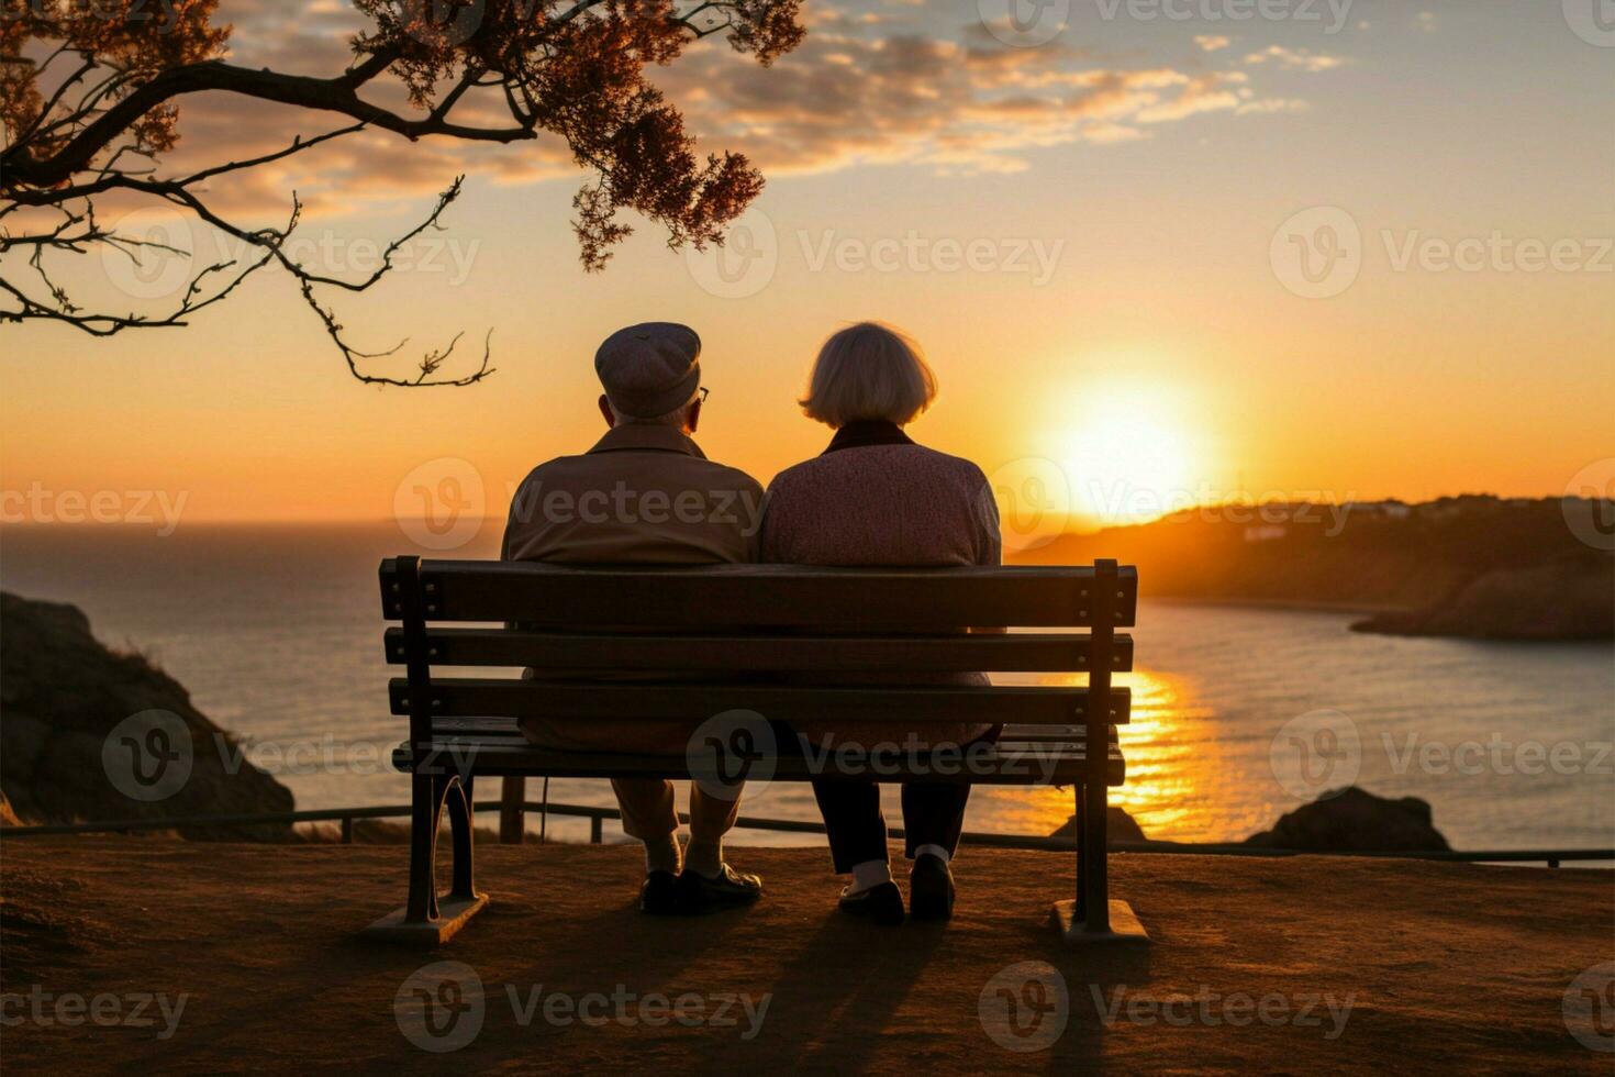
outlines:
{"label": "white-haired elderly woman in knitted pinkish sweater on the bench", "polygon": [[[775,476],[762,520],[762,560],[796,565],[996,565],[1001,552],[998,512],[987,478],[969,460],[914,444],[904,433],[937,396],[937,379],[919,347],[875,323],[841,329],[819,350],[803,412],[835,430],[830,446]],[[862,680],[869,680],[867,677]],[[921,675],[893,680],[917,683]],[[937,680],[933,675],[929,678]],[[987,683],[982,673],[942,680]],[[963,744],[992,736],[995,727],[904,727],[825,722],[801,728],[820,746],[862,748],[912,743]],[[880,786],[867,782],[816,782],[846,912],[880,924],[903,920],[903,895],[887,859],[887,820]],[[916,919],[953,914],[948,867],[959,844],[969,785],[906,782],[903,823],[908,832],[909,911]]]}

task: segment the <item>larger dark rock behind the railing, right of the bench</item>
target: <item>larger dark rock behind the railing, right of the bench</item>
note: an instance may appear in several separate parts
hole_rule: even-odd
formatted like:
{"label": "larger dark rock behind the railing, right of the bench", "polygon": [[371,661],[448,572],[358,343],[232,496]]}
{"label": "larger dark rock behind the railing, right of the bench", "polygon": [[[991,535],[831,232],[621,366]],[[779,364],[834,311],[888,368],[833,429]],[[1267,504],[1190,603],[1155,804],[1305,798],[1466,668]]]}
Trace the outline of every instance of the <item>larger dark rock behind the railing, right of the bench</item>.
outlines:
{"label": "larger dark rock behind the railing, right of the bench", "polygon": [[1245,844],[1315,853],[1410,853],[1452,848],[1436,830],[1428,801],[1416,796],[1391,801],[1355,785],[1324,793],[1311,804],[1286,812],[1273,830],[1245,838]]}

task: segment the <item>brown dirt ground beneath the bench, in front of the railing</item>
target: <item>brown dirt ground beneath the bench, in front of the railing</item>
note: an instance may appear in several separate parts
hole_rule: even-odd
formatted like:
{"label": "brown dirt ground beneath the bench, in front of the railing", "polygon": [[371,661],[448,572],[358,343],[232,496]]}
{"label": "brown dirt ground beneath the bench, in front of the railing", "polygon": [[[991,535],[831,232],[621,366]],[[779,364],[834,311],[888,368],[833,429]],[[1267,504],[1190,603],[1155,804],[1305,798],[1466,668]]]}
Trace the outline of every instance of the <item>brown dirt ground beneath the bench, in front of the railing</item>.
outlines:
{"label": "brown dirt ground beneath the bench, in front of the railing", "polygon": [[652,920],[633,909],[630,848],[486,846],[478,883],[493,903],[420,953],[355,935],[402,903],[402,848],[13,838],[0,846],[0,1062],[1615,1069],[1594,1050],[1615,1033],[1615,1009],[1599,1009],[1615,1006],[1610,872],[1118,854],[1113,895],[1153,940],[1127,951],[1071,949],[1048,927],[1071,890],[1066,854],[966,849],[954,920],[901,928],[837,914],[819,849],[732,861],[764,877],[756,907]]}

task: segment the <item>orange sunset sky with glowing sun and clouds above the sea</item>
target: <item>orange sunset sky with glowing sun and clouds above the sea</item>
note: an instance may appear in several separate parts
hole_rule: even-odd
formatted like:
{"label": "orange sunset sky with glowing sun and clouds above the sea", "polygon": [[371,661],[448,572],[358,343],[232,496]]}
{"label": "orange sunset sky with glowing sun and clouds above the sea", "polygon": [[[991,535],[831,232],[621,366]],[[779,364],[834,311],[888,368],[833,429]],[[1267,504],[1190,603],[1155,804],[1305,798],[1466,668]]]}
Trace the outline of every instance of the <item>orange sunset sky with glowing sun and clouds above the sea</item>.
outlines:
{"label": "orange sunset sky with glowing sun and clouds above the sea", "polygon": [[[226,0],[239,55],[341,63],[341,8],[292,24],[278,2]],[[501,515],[533,463],[598,436],[593,350],[651,318],[701,333],[699,441],[764,481],[822,447],[793,397],[858,318],[906,328],[940,375],[917,439],[1037,476],[1080,523],[1242,494],[1558,494],[1615,455],[1615,48],[1557,11],[1360,0],[1328,32],[1076,3],[1011,47],[956,5],[808,6],[809,44],[772,71],[707,45],[667,71],[703,145],[770,176],[736,242],[756,257],[686,258],[641,226],[585,274],[578,176],[549,147],[310,155],[239,205],[318,195],[302,234],[334,271],[470,173],[434,245],[338,302],[363,344],[410,336],[405,357],[493,328],[497,373],[360,386],[270,274],[189,329],[8,326],[5,518],[107,491],[182,497],[186,520],[384,518],[422,465],[460,467],[443,459]],[[229,108],[197,105],[189,152],[321,129]],[[128,302],[153,271],[90,257],[68,278]]]}

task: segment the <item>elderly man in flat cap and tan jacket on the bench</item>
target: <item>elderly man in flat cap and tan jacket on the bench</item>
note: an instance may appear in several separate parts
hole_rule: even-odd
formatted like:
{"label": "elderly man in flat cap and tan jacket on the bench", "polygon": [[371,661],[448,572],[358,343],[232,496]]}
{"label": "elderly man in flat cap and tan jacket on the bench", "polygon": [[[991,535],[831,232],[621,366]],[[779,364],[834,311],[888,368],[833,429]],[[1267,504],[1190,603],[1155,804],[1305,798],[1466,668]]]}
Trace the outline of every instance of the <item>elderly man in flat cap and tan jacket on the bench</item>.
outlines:
{"label": "elderly man in flat cap and tan jacket on the bench", "polygon": [[[583,455],[539,463],[523,480],[505,525],[505,560],[614,565],[703,565],[756,555],[762,486],[714,463],[691,441],[701,421],[701,337],[651,321],[614,333],[594,355],[610,428]],[[593,730],[523,720],[536,744],[560,749],[664,751],[683,756],[691,730],[665,722],[614,722]],[[622,828],[644,843],[640,907],[699,912],[754,901],[756,875],[724,862],[724,835],[740,812],[690,786],[690,843],[680,857],[673,783],[614,778]],[[682,861],[682,864],[680,864]]]}

